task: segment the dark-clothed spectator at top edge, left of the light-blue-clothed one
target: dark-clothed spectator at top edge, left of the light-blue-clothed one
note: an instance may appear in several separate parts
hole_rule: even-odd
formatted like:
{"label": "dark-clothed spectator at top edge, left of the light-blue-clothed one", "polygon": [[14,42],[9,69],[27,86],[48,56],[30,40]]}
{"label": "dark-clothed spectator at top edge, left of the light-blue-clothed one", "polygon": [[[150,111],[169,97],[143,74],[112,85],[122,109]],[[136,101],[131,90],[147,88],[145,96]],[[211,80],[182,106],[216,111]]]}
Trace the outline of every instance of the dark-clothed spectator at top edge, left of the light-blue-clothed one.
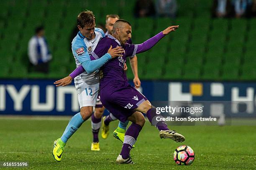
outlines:
{"label": "dark-clothed spectator at top edge, left of the light-blue-clothed one", "polygon": [[150,17],[155,14],[156,12],[153,0],[136,0],[134,9],[135,17]]}

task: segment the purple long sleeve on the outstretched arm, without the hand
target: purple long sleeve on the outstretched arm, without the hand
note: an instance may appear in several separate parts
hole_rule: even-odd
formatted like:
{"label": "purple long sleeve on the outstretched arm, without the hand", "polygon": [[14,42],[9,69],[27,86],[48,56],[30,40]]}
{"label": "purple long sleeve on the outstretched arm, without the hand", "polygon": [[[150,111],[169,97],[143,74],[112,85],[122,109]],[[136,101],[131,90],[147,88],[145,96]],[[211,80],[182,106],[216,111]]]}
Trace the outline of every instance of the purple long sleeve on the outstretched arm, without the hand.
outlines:
{"label": "purple long sleeve on the outstretched arm, without the hand", "polygon": [[137,47],[136,51],[134,51],[134,52],[136,54],[138,54],[138,53],[141,53],[141,52],[149,50],[154,45],[156,45],[156,43],[159,42],[159,40],[161,40],[163,37],[164,37],[164,33],[161,31],[158,34],[156,34],[154,37],[146,40],[145,42],[143,42],[141,44],[138,44],[138,47]]}

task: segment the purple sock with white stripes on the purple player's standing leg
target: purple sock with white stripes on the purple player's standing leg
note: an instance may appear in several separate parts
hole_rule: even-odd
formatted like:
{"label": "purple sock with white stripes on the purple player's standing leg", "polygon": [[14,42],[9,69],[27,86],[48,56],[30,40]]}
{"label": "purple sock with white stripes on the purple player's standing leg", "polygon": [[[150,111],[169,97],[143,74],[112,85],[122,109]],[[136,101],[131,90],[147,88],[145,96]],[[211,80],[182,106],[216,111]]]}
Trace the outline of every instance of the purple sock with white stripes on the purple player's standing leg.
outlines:
{"label": "purple sock with white stripes on the purple player's standing leg", "polygon": [[137,140],[138,134],[140,133],[142,127],[136,123],[132,123],[131,126],[125,133],[125,138],[123,141],[123,147],[120,155],[123,159],[128,159],[130,157],[131,148],[133,148],[134,143]]}

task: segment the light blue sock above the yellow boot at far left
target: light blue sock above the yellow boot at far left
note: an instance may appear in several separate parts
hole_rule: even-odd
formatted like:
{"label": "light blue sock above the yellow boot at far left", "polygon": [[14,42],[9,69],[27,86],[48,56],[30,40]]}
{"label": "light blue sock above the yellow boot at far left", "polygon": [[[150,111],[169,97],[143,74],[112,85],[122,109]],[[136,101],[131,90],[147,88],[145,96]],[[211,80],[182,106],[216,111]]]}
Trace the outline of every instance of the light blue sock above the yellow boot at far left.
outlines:
{"label": "light blue sock above the yellow boot at far left", "polygon": [[77,131],[77,129],[83,124],[83,122],[84,120],[82,119],[80,112],[74,115],[69,120],[69,124],[67,125],[67,128],[61,136],[61,140],[64,143],[67,143],[67,140],[69,140],[69,138]]}

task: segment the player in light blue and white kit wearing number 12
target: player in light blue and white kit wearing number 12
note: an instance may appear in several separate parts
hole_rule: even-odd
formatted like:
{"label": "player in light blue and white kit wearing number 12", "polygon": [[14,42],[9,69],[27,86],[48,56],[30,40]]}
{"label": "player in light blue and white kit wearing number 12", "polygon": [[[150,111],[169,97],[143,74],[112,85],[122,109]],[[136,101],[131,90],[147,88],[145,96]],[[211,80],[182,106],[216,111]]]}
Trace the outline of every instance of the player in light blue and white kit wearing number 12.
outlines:
{"label": "player in light blue and white kit wearing number 12", "polygon": [[[95,16],[91,11],[84,11],[77,16],[77,27],[79,28],[79,32],[72,41],[72,52],[77,67],[82,65],[85,70],[85,72],[74,79],[80,112],[69,120],[61,138],[54,141],[53,155],[57,161],[61,161],[67,140],[92,115],[99,90],[98,69],[108,62],[108,60],[123,56],[121,55],[123,53],[122,48],[116,47],[112,49],[111,46],[108,52],[101,58],[95,58],[96,60],[90,59],[89,54],[93,54],[93,50],[99,40],[105,37],[101,29],[95,28]],[[58,84],[58,82],[55,84]]]}

